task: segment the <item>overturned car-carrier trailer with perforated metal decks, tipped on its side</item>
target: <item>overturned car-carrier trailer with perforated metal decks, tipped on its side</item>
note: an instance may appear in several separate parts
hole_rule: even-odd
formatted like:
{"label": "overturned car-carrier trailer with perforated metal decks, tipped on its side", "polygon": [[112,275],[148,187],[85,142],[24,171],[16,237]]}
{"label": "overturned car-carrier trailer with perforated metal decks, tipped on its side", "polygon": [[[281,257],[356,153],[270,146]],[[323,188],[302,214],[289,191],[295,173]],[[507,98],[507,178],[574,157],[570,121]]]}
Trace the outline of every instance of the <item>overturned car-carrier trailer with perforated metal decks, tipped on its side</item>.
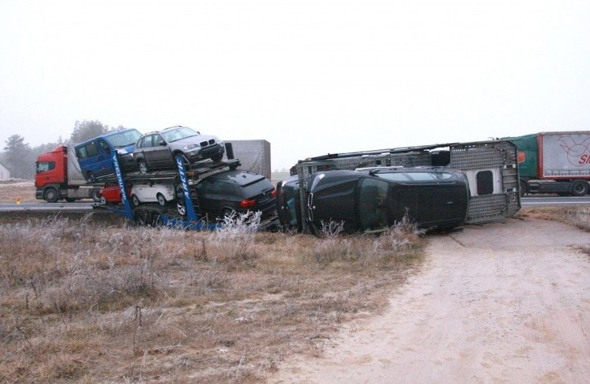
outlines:
{"label": "overturned car-carrier trailer with perforated metal decks, tipped on its side", "polygon": [[[298,161],[291,174],[298,175],[301,217],[310,211],[307,192],[312,174],[362,167],[444,166],[465,172],[470,201],[465,223],[488,223],[510,217],[520,209],[517,148],[508,140],[451,143],[327,154]],[[309,232],[302,220],[304,232]]]}

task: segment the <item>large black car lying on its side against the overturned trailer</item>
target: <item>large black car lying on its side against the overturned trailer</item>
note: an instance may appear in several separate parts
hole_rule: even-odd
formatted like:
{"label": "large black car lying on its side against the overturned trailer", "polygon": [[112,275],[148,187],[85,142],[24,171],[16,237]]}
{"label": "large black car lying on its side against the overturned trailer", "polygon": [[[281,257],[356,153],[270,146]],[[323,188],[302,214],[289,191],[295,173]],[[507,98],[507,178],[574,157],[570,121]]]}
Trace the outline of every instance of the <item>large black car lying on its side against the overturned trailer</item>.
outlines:
{"label": "large black car lying on its side against the overturned trailer", "polygon": [[470,190],[460,170],[376,167],[317,172],[306,198],[304,216],[316,233],[330,221],[343,222],[345,232],[379,231],[406,214],[421,228],[450,229],[465,223]]}

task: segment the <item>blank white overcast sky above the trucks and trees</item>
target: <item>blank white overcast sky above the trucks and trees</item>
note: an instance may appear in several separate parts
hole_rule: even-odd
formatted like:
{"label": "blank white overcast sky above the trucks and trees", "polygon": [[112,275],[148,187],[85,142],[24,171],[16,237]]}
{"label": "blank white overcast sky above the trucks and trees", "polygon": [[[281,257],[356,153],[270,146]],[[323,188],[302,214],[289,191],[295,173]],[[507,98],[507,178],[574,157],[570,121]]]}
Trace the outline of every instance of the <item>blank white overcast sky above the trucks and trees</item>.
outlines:
{"label": "blank white overcast sky above the trucks and trees", "polygon": [[328,152],[590,129],[590,1],[0,0],[0,149],[76,120]]}

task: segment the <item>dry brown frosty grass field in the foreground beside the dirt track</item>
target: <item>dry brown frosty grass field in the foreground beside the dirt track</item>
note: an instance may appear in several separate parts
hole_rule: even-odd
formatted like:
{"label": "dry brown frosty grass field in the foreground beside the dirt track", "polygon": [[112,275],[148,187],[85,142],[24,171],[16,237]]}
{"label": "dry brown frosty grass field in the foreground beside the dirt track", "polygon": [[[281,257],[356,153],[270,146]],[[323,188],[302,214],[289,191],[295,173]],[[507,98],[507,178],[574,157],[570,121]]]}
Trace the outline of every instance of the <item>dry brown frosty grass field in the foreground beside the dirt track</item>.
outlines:
{"label": "dry brown frosty grass field in the foreground beside the dirt track", "polygon": [[2,222],[1,382],[263,381],[385,307],[423,241]]}

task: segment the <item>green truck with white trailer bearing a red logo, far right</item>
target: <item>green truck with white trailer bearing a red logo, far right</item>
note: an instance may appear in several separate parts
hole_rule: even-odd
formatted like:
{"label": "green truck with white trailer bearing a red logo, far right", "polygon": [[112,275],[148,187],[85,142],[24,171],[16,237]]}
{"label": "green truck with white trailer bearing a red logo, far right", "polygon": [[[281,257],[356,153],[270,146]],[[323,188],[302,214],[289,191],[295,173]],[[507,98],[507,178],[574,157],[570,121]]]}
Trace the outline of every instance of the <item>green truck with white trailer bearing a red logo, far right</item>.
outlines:
{"label": "green truck with white trailer bearing a red logo, far right", "polygon": [[590,131],[503,138],[517,146],[520,194],[584,196],[590,190]]}

